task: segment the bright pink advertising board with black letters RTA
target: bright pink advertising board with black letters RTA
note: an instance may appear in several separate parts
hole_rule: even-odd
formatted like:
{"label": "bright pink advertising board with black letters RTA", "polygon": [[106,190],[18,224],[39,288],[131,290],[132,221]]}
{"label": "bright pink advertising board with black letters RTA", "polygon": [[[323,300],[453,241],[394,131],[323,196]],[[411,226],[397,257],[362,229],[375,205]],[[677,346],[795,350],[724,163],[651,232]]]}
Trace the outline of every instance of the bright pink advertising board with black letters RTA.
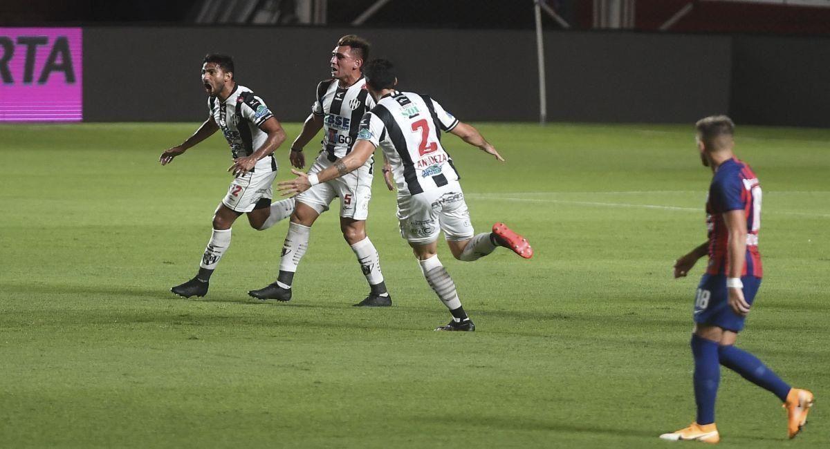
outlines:
{"label": "bright pink advertising board with black letters RTA", "polygon": [[0,27],[0,122],[80,122],[81,28]]}

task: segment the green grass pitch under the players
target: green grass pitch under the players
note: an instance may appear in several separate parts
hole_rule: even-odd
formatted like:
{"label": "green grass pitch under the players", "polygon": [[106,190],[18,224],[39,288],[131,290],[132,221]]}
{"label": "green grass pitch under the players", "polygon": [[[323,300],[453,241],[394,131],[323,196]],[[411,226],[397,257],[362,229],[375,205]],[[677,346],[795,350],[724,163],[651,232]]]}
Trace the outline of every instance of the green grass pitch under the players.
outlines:
{"label": "green grass pitch under the players", "polygon": [[[482,124],[504,165],[445,138],[476,229],[504,220],[535,248],[461,263],[440,247],[471,334],[432,331],[449,314],[379,179],[369,234],[395,307],[350,307],[368,288],[336,212],[315,224],[291,302],[248,302],[276,275],[287,223],[258,232],[244,217],[208,296],[173,297],[230,181],[218,134],[159,166],[193,129],[0,126],[0,446],[668,447],[657,435],[694,418],[704,262],[671,279],[706,239],[711,174],[691,126]],[[793,442],[815,447],[828,441],[830,131],[741,127],[737,142],[764,187],[766,274],[739,345],[816,393]],[[722,444],[779,447],[784,416],[723,369]]]}

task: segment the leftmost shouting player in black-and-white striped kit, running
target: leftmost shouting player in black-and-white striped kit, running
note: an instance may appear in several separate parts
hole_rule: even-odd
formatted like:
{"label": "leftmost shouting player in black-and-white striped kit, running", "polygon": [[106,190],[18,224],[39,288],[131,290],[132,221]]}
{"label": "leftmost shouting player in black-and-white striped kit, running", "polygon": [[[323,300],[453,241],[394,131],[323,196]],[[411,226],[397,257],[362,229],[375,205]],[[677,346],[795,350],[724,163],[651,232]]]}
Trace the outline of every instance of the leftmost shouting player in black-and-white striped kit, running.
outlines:
{"label": "leftmost shouting player in black-and-white striped kit, running", "polygon": [[199,263],[196,276],[170,289],[181,297],[203,297],[219,259],[231,244],[231,225],[239,215],[247,214],[254,229],[268,229],[291,215],[294,200],[271,204],[271,184],[276,178],[273,152],[286,140],[280,122],[265,101],[234,79],[233,59],[226,55],[207,55],[202,65],[202,83],[207,92],[210,115],[196,133],[177,147],[161,154],[159,162],[167,165],[190,147],[217,131],[231,147],[234,179],[227,195],[213,215],[213,233]]}

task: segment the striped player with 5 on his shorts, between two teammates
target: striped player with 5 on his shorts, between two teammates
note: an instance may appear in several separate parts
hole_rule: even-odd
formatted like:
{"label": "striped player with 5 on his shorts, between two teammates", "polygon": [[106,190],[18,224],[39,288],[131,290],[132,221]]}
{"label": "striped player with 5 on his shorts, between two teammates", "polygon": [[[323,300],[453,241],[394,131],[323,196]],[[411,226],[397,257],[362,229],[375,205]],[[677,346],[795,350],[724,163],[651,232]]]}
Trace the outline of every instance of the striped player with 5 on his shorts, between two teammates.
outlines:
{"label": "striped player with 5 on his shorts, between two teammates", "polygon": [[[358,135],[360,118],[374,107],[374,100],[366,90],[361,68],[369,57],[369,42],[359,36],[343,36],[331,52],[331,76],[317,84],[317,98],[311,114],[305,119],[303,129],[291,145],[291,164],[305,167],[303,147],[325,128],[323,149],[309,173],[319,173],[352,151]],[[308,248],[311,225],[320,214],[329,210],[335,197],[340,199],[340,230],[351,246],[369,282],[369,296],[354,304],[359,307],[387,307],[392,297],[386,290],[380,271],[380,258],[374,244],[366,235],[366,218],[369,216],[369,200],[372,198],[372,158],[364,160],[360,167],[338,179],[322,182],[302,195],[296,196],[296,207],[291,214],[285,244],[282,247],[280,273],[276,282],[248,292],[251,297],[278,301],[291,300],[291,285],[300,259]],[[384,168],[384,179],[386,169]],[[390,181],[386,180],[392,190]]]}

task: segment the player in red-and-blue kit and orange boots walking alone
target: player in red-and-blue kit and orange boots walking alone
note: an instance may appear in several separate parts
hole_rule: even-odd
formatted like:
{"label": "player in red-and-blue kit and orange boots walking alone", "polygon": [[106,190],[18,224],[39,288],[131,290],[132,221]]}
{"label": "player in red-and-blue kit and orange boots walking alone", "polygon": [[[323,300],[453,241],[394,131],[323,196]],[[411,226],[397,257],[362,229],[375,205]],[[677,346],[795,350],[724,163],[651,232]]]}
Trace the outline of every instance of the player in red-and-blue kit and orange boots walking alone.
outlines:
{"label": "player in red-and-blue kit and orange boots walking alone", "polygon": [[730,118],[702,118],[696,128],[701,161],[714,173],[706,200],[709,239],[677,259],[674,276],[686,276],[697,260],[708,254],[706,273],[696,292],[695,331],[691,336],[697,417],[689,427],[660,437],[673,441],[720,441],[715,427],[715,396],[720,365],[724,365],[774,393],[784,403],[787,433],[793,438],[807,422],[813,393],[791,388],[754,355],[735,346],[761,284],[761,186],[749,165],[735,158],[735,124]]}

